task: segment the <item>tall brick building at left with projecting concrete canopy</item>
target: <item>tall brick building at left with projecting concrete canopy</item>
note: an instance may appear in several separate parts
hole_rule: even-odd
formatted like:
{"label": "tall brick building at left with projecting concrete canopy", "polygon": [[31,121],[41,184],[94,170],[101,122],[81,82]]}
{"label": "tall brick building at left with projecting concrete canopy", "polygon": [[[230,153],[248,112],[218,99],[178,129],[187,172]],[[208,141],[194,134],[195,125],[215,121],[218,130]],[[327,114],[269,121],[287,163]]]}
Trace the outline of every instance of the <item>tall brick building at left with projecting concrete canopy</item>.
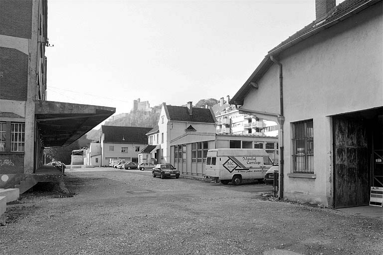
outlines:
{"label": "tall brick building at left with projecting concrete canopy", "polygon": [[0,187],[8,188],[38,182],[44,147],[72,143],[115,108],[46,101],[46,0],[1,0],[0,35]]}

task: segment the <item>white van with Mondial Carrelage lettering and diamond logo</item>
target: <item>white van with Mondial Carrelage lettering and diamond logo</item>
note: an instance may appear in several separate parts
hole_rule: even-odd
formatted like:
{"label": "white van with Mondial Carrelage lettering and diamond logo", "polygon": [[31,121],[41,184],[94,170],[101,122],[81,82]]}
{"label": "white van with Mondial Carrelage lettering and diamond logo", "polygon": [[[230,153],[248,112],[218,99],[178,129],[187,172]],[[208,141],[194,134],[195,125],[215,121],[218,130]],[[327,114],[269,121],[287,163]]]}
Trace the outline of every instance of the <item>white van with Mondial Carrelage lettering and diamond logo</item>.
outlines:
{"label": "white van with Mondial Carrelage lettering and diamond logo", "polygon": [[262,180],[271,166],[273,161],[264,149],[209,149],[204,177],[238,185],[243,179]]}

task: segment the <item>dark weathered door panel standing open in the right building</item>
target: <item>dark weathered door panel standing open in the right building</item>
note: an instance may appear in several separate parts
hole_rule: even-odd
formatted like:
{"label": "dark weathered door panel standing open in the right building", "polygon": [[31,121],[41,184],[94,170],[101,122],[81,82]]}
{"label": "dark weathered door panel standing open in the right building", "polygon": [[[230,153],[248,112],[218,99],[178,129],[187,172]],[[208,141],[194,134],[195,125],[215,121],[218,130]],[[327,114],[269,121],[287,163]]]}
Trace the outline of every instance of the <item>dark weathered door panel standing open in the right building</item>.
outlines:
{"label": "dark weathered door panel standing open in the right building", "polygon": [[334,206],[369,204],[369,160],[363,119],[333,118]]}

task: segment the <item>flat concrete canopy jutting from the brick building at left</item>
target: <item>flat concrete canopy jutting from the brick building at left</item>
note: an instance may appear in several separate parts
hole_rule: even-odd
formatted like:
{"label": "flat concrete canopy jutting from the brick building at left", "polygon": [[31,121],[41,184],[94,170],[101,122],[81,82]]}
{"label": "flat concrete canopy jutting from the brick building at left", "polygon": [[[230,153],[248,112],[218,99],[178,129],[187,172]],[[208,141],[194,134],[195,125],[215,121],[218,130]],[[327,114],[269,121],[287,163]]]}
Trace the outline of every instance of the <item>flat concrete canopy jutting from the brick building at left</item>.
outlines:
{"label": "flat concrete canopy jutting from the brick building at left", "polygon": [[112,116],[116,108],[36,101],[36,126],[44,147],[66,146]]}

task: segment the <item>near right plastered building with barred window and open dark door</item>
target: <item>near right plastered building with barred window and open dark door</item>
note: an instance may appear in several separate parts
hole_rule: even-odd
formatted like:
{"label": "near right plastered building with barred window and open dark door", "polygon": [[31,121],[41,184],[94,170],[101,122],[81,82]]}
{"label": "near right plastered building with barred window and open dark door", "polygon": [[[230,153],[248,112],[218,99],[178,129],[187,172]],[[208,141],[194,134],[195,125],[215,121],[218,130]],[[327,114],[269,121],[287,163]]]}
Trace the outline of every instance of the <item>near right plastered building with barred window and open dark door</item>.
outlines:
{"label": "near right plastered building with barred window and open dark door", "polygon": [[382,1],[315,3],[229,103],[278,122],[280,198],[369,205],[383,187]]}

